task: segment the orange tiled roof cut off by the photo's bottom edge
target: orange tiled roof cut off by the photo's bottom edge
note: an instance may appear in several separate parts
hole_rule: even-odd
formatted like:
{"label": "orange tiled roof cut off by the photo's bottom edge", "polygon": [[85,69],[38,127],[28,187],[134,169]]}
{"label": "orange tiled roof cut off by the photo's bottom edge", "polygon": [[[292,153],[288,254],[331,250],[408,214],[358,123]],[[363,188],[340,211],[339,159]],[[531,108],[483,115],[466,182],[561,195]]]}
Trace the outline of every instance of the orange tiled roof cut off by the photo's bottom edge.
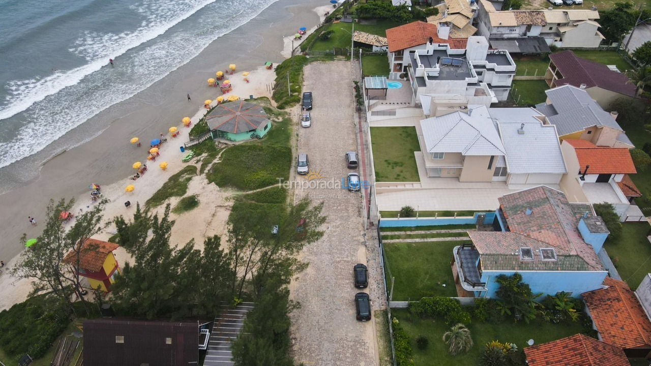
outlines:
{"label": "orange tiled roof cut off by the photo's bottom edge", "polygon": [[525,348],[529,366],[630,366],[621,348],[583,334]]}

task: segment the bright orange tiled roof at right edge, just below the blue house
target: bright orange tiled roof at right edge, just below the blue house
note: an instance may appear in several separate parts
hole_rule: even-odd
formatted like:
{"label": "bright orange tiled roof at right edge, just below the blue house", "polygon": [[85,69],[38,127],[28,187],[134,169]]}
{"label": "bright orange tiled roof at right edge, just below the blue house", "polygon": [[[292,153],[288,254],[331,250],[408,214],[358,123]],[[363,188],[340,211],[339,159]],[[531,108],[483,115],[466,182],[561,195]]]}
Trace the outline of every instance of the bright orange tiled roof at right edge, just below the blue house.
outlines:
{"label": "bright orange tiled roof at right edge, just below the blue house", "polygon": [[603,341],[621,348],[651,348],[651,321],[623,281],[606,278],[607,289],[585,292],[583,300]]}

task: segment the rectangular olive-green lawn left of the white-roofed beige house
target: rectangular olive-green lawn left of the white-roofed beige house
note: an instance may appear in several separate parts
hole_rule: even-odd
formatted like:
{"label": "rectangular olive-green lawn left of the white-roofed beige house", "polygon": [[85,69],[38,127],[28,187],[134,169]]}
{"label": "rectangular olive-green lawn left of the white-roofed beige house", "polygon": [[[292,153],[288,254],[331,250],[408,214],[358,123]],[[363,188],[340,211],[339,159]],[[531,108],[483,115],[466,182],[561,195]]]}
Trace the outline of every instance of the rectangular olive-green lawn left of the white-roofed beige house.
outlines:
{"label": "rectangular olive-green lawn left of the white-roofed beige house", "polygon": [[414,151],[420,151],[415,127],[371,127],[373,163],[378,182],[420,182]]}

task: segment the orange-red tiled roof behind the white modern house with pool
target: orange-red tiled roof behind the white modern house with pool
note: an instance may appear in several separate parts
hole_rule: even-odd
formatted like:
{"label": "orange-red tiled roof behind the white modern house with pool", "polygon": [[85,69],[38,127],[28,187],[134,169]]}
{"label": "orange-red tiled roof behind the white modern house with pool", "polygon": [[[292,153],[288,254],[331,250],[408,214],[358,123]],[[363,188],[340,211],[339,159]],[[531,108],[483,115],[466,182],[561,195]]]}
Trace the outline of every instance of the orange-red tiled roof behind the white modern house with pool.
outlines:
{"label": "orange-red tiled roof behind the white modern house with pool", "polygon": [[435,24],[425,23],[420,20],[387,29],[386,33],[389,52],[426,44],[429,42],[430,37],[434,38],[434,43],[446,43],[450,45],[450,48],[465,48],[468,42],[468,38],[439,38]]}

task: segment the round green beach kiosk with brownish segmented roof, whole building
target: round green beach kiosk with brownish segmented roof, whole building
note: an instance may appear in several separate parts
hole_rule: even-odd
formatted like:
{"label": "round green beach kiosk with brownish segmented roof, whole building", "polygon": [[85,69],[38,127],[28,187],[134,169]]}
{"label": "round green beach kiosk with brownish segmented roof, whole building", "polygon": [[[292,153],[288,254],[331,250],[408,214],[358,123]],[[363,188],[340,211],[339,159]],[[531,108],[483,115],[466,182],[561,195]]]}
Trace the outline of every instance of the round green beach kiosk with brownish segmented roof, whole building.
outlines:
{"label": "round green beach kiosk with brownish segmented roof, whole building", "polygon": [[213,139],[242,141],[261,138],[271,128],[271,120],[262,107],[243,100],[226,102],[206,116]]}

